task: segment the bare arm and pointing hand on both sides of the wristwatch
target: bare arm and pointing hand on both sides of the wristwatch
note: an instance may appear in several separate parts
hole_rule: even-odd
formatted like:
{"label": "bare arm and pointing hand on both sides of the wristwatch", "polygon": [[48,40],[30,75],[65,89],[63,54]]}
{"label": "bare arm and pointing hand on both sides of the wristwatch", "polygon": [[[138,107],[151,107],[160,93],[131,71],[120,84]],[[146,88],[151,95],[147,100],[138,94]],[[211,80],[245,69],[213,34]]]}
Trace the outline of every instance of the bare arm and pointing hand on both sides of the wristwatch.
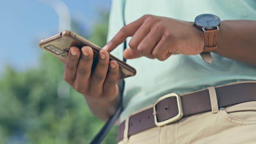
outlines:
{"label": "bare arm and pointing hand on both sides of the wristwatch", "polygon": [[[221,56],[256,65],[256,21],[222,21],[218,36]],[[204,35],[193,26],[193,22],[167,17],[144,15],[123,27],[106,46],[112,51],[117,45],[131,37],[130,49],[124,51],[125,58],[146,56],[165,61],[173,54],[198,55],[203,51]]]}

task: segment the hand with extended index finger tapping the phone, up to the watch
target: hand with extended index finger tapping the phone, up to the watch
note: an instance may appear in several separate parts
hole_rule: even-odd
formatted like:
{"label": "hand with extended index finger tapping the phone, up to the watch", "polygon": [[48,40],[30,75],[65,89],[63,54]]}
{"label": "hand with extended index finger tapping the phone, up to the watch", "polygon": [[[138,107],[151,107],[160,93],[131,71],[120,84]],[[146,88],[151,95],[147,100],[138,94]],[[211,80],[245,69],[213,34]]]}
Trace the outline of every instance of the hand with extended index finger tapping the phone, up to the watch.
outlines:
{"label": "hand with extended index finger tapping the phone, up to the watch", "polygon": [[131,36],[130,48],[124,51],[127,59],[146,56],[164,61],[177,53],[197,55],[203,51],[205,43],[203,33],[193,22],[144,15],[121,28],[104,47],[110,52]]}

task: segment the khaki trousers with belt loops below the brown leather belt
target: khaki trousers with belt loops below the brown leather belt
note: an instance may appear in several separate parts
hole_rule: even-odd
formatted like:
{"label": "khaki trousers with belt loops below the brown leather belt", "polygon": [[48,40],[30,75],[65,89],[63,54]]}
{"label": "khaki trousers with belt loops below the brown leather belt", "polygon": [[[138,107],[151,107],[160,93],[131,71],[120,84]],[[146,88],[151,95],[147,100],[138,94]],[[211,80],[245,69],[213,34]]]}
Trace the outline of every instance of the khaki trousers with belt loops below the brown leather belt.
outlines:
{"label": "khaki trousers with belt loops below the brown leather belt", "polygon": [[[216,99],[215,93],[210,92],[210,95],[211,100]],[[154,127],[125,137],[127,139],[118,144],[256,143],[256,101],[218,109],[218,104],[212,100],[212,112],[183,117],[164,127]]]}

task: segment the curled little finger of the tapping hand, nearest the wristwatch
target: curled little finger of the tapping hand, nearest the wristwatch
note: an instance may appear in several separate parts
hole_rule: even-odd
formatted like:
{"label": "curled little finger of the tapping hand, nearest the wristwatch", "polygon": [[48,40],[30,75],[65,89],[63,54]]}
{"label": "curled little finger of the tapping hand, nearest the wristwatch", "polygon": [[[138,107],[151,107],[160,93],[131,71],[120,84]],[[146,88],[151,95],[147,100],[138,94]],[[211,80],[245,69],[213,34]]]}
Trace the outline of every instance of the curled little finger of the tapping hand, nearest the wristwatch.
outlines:
{"label": "curled little finger of the tapping hand, nearest the wristwatch", "polygon": [[[170,55],[171,52],[169,52],[170,45],[166,43],[166,41],[162,38],[159,43],[155,46],[155,48],[152,51],[152,55],[159,59],[160,61],[165,61]],[[171,55],[170,55],[171,56]]]}

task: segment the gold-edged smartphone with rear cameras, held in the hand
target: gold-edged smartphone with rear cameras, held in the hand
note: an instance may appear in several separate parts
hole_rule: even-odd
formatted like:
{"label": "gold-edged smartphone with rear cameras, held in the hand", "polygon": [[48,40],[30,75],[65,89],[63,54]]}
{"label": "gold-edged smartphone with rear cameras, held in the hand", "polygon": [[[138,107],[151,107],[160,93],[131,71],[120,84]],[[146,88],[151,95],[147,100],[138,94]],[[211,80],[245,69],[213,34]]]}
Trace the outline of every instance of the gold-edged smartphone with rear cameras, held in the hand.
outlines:
{"label": "gold-edged smartphone with rear cameras, held in the hand", "polygon": [[[39,47],[43,50],[50,52],[51,54],[63,59],[64,61],[67,58],[69,48],[72,46],[77,46],[81,49],[83,46],[90,46],[94,51],[94,61],[92,63],[92,73],[98,62],[98,52],[101,50],[101,47],[91,43],[89,40],[81,37],[78,34],[75,34],[72,31],[62,31],[58,34],[55,34],[51,37],[40,40]],[[136,69],[131,67],[131,65],[121,61],[113,55],[109,55],[109,59],[117,61],[119,64],[119,79],[124,79],[126,77],[135,76]]]}

